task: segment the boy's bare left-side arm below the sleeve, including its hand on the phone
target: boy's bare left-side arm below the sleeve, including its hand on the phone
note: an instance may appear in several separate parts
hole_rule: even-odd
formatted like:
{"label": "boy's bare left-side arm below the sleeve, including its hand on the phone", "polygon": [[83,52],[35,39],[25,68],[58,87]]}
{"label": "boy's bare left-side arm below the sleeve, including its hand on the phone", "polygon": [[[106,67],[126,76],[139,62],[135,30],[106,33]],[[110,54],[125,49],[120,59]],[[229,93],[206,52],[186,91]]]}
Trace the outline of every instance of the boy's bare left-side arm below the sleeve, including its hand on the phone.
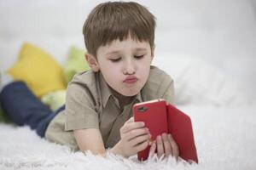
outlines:
{"label": "boy's bare left-side arm below the sleeve, including its hand on the phone", "polygon": [[[102,134],[98,129],[87,128],[73,130],[73,132],[80,150],[90,150],[92,154],[106,156]],[[109,150],[113,154],[129,157],[148,146],[150,139],[148,129],[142,122],[134,122],[132,117],[121,127],[120,133],[121,139],[118,144]]]}

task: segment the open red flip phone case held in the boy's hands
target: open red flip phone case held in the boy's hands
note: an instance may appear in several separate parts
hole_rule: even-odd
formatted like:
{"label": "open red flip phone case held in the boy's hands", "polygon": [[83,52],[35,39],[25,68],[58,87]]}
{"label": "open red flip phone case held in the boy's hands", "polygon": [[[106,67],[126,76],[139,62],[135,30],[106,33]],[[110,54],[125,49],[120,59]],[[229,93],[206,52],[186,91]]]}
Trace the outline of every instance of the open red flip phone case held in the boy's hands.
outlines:
{"label": "open red flip phone case held in the boy's hands", "polygon": [[[145,122],[152,140],[161,133],[171,133],[179,149],[179,156],[183,160],[198,163],[192,123],[183,111],[173,105],[166,104],[163,99],[151,100],[133,106],[133,116],[136,122]],[[138,153],[141,161],[148,159],[150,146]]]}

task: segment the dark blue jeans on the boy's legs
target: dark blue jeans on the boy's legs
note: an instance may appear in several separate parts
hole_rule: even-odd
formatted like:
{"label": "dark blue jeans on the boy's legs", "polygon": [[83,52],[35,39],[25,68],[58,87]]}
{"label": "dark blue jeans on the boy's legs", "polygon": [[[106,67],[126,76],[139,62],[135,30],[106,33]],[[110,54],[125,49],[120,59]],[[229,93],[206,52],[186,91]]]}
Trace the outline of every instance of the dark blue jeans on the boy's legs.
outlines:
{"label": "dark blue jeans on the boy's legs", "polygon": [[62,105],[57,111],[50,111],[24,82],[11,82],[6,85],[0,93],[0,104],[13,122],[19,126],[28,125],[42,138],[49,122],[57,113],[65,110],[65,105]]}

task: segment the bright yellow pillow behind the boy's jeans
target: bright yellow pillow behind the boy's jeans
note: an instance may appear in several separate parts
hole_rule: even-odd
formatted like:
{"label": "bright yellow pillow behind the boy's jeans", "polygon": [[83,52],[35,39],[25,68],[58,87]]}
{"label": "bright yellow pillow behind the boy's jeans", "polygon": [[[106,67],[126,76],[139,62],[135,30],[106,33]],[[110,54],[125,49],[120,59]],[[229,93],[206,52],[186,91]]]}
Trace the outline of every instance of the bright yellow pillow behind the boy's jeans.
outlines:
{"label": "bright yellow pillow behind the boy's jeans", "polygon": [[15,80],[26,82],[38,98],[65,88],[61,65],[30,43],[23,44],[18,61],[8,72]]}

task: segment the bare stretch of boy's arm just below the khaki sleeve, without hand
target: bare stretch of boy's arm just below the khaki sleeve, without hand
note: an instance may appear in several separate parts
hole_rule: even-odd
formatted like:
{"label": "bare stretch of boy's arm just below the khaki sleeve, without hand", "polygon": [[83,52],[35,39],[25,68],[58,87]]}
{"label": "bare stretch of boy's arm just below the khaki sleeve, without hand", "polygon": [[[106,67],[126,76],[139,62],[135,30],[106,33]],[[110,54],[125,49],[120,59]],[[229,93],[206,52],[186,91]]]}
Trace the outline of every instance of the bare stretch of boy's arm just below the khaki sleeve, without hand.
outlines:
{"label": "bare stretch of boy's arm just below the khaki sleeve, without hand", "polygon": [[105,154],[105,147],[102,140],[102,134],[99,129],[87,128],[73,131],[79,149],[90,150],[92,154]]}

